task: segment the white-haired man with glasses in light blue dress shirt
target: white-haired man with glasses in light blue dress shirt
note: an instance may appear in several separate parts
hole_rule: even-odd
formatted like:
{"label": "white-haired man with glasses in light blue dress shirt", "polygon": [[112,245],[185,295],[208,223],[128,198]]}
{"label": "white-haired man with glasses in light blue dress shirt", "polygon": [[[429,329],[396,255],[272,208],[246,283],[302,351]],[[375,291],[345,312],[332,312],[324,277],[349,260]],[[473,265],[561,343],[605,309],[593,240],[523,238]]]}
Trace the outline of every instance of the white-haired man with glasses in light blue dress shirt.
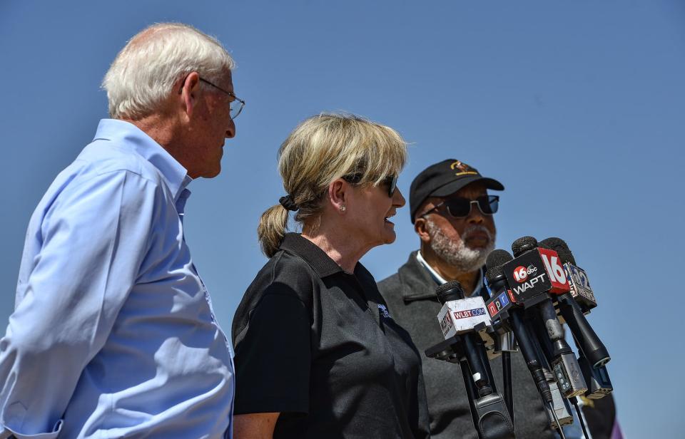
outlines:
{"label": "white-haired man with glasses in light blue dress shirt", "polygon": [[107,72],[111,119],[29,222],[0,340],[0,438],[229,438],[233,352],[183,236],[233,119],[233,59],[183,24]]}

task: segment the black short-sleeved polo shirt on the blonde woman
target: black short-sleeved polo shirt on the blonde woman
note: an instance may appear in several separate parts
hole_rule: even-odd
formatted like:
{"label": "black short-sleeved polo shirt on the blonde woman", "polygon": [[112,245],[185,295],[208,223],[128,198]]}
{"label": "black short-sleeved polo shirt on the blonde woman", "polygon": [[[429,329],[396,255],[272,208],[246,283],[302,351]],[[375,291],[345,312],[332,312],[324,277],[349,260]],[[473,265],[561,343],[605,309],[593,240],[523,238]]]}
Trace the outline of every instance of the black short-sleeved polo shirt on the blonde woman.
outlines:
{"label": "black short-sleeved polo shirt on the blonde woman", "polygon": [[235,410],[274,438],[427,438],[421,359],[372,275],[286,234],[233,317]]}

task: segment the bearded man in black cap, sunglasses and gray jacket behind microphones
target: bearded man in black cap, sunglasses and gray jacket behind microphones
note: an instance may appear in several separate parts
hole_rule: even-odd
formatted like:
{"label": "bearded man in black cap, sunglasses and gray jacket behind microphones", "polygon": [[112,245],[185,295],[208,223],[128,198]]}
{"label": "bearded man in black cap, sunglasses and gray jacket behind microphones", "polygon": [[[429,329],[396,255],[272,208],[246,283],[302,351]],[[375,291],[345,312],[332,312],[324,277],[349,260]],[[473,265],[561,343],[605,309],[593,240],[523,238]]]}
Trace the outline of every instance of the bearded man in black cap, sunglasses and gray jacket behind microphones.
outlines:
{"label": "bearded man in black cap, sunglasses and gray jacket behind microphones", "polygon": [[[443,339],[436,319],[438,285],[458,280],[467,296],[487,297],[483,266],[494,249],[499,202],[488,190],[504,190],[504,186],[455,159],[427,167],[412,182],[410,213],[420,249],[378,287],[390,315],[410,332],[420,352]],[[478,438],[460,367],[422,358],[431,437]],[[501,363],[495,360],[491,367],[501,388]],[[517,438],[557,437],[520,353],[512,355],[512,381]]]}

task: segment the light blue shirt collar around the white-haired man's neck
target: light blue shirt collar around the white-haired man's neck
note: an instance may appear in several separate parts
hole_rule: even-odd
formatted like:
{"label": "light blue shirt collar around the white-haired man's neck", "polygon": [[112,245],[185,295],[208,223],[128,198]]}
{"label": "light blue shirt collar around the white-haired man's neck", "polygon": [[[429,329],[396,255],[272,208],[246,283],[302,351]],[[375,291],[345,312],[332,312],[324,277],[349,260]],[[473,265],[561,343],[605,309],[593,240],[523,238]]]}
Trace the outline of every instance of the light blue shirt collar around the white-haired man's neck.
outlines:
{"label": "light blue shirt collar around the white-haired man's neck", "polygon": [[124,120],[102,119],[93,140],[113,140],[124,148],[131,148],[138,155],[156,167],[161,173],[167,187],[178,199],[186,186],[193,180],[181,163],[153,138],[132,123]]}

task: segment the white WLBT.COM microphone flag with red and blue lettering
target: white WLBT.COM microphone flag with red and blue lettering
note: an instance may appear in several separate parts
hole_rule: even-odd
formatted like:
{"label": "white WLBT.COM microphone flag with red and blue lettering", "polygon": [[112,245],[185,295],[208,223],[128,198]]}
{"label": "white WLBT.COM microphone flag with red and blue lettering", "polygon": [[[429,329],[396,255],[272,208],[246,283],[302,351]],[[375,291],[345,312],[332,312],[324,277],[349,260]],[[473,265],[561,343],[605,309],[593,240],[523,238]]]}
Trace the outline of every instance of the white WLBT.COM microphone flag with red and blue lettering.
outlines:
{"label": "white WLBT.COM microphone flag with red and blue lettering", "polygon": [[481,323],[492,325],[481,296],[445,302],[437,314],[437,321],[445,339],[473,331],[474,327]]}

